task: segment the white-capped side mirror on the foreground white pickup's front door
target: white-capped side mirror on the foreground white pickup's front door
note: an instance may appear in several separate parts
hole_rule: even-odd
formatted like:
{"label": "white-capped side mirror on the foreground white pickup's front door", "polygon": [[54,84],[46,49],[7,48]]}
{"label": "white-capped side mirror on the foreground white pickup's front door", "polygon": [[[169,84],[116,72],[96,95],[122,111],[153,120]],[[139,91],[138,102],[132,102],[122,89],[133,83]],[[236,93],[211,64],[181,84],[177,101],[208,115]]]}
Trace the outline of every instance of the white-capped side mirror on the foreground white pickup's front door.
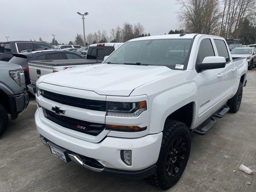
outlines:
{"label": "white-capped side mirror on the foreground white pickup's front door", "polygon": [[202,72],[208,69],[224,68],[226,66],[226,59],[224,57],[211,56],[204,58],[202,63],[196,64],[196,71]]}

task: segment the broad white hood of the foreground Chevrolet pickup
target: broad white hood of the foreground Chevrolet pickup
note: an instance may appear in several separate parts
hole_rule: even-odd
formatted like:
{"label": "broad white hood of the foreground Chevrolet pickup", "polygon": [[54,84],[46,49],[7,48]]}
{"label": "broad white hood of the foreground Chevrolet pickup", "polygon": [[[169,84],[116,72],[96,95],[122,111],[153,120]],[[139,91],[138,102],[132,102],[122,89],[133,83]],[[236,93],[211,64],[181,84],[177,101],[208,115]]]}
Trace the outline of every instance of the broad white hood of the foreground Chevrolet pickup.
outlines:
{"label": "broad white hood of the foreground Chevrolet pickup", "polygon": [[38,83],[90,90],[101,95],[129,96],[143,84],[180,72],[166,66],[98,64],[41,76]]}

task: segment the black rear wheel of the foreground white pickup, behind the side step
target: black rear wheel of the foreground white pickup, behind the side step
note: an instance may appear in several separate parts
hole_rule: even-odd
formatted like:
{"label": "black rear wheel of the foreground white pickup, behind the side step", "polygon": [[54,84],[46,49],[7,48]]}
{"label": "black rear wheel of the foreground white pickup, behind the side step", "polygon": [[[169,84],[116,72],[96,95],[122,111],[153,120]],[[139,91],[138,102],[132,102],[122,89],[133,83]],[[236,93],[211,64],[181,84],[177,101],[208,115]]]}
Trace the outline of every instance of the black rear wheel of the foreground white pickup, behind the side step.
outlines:
{"label": "black rear wheel of the foreground white pickup, behind the side step", "polygon": [[238,90],[236,94],[230,98],[227,102],[227,106],[230,108],[229,112],[236,113],[238,112],[243,96],[243,84],[242,82],[239,83]]}

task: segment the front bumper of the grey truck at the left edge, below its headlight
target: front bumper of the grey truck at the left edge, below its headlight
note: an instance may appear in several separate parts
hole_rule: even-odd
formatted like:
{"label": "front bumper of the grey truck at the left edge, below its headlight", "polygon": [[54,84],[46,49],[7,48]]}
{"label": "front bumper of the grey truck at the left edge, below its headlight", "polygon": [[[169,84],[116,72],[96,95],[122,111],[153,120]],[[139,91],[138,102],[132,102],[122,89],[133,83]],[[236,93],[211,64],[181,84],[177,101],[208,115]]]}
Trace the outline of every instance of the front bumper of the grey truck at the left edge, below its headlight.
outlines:
{"label": "front bumper of the grey truck at the left edge, below its headlight", "polygon": [[11,104],[11,117],[12,120],[18,117],[18,114],[27,108],[29,103],[28,93],[24,92],[22,94],[10,95],[9,96]]}

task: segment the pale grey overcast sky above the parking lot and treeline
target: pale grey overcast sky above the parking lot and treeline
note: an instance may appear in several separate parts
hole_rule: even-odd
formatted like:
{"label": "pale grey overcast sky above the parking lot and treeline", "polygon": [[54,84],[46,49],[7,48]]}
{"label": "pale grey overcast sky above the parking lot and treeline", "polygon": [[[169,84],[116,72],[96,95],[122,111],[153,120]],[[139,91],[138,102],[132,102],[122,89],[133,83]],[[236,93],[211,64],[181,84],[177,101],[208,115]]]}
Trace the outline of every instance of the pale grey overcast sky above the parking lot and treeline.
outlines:
{"label": "pale grey overcast sky above the parking lot and treeline", "polygon": [[74,41],[83,33],[82,19],[76,12],[89,12],[85,33],[140,22],[151,35],[176,29],[175,0],[0,0],[0,41],[38,40]]}

